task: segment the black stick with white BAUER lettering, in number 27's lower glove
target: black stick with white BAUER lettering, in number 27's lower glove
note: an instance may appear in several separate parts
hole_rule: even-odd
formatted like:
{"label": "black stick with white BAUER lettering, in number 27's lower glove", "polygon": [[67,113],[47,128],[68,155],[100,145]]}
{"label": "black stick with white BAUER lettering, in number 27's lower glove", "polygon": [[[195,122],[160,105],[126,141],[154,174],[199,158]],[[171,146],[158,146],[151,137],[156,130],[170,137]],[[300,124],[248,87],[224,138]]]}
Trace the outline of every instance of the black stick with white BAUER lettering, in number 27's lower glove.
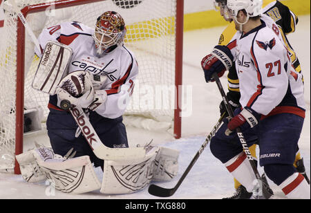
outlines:
{"label": "black stick with white BAUER lettering, in number 27's lower glove", "polygon": [[[214,80],[215,80],[215,82],[216,82],[216,84],[218,86],[220,94],[221,94],[221,96],[223,98],[223,102],[224,102],[225,107],[227,109],[227,112],[229,114],[229,118],[233,118],[234,117],[234,112],[233,112],[233,110],[231,108],[231,105],[228,102],[227,96],[225,95],[225,91],[223,90],[223,85],[221,84],[217,73],[214,73],[213,77],[214,77]],[[245,140],[245,138],[243,136],[243,133],[242,133],[242,131],[241,131],[241,129],[239,127],[236,128],[236,133],[238,135],[238,139],[241,142],[243,150],[244,150],[244,152],[245,152],[245,154],[247,156],[247,159],[249,160],[249,163],[252,166],[253,172],[254,172],[254,174],[256,176],[257,183],[254,185],[253,194],[256,194],[257,197],[256,196],[254,196],[254,197],[258,198],[258,196],[263,195],[263,196],[265,196],[266,199],[270,198],[270,196],[272,196],[272,194],[270,194],[270,192],[268,192],[267,189],[265,187],[263,187],[263,181],[261,180],[261,176],[260,176],[260,174],[259,174],[259,172],[257,170],[256,162],[254,161],[254,158],[253,158],[251,152],[248,149],[246,140]]]}

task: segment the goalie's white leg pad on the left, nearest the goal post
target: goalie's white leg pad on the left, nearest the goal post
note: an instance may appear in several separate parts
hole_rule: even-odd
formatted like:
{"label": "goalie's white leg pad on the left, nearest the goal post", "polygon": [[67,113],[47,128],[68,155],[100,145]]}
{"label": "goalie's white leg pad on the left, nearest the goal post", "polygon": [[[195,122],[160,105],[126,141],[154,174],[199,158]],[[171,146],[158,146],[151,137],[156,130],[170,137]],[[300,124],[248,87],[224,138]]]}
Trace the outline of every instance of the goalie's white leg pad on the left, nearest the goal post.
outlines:
{"label": "goalie's white leg pad on the left, nearest the goal post", "polygon": [[93,165],[88,156],[78,158],[57,157],[47,147],[32,149],[16,156],[22,177],[35,183],[48,178],[59,191],[81,194],[100,189]]}

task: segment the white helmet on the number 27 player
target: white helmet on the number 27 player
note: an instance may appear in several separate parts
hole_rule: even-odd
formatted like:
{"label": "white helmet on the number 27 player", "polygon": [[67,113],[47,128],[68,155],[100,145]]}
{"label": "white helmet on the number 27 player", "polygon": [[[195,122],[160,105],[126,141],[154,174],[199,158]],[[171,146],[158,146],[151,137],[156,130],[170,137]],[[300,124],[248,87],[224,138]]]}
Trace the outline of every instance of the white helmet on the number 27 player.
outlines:
{"label": "white helmet on the number 27 player", "polygon": [[227,0],[227,7],[233,17],[236,17],[240,10],[245,10],[247,17],[256,17],[263,13],[263,0]]}

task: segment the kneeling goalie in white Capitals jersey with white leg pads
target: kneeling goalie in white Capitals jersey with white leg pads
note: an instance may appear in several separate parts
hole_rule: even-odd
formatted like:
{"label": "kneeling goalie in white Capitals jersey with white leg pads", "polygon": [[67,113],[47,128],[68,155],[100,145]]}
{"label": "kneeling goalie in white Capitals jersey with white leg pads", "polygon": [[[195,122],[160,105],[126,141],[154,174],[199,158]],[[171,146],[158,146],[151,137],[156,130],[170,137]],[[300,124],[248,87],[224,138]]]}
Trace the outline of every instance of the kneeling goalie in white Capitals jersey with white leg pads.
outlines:
{"label": "kneeling goalie in white Capitals jersey with white leg pads", "polygon": [[[39,35],[35,54],[40,63],[32,87],[50,94],[46,125],[51,148],[17,156],[26,181],[47,178],[66,193],[128,194],[151,180],[176,176],[178,151],[129,148],[122,115],[138,63],[124,46],[125,34],[124,19],[107,11],[97,18],[95,30],[73,21]],[[102,183],[93,167],[102,168]]]}

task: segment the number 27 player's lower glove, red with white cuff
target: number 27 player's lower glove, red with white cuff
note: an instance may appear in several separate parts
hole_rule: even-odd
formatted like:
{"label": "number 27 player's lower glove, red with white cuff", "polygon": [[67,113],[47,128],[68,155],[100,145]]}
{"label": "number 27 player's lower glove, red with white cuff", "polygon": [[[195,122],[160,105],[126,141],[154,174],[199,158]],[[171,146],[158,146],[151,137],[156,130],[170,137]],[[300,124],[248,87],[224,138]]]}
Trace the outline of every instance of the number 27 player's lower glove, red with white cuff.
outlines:
{"label": "number 27 player's lower glove, red with white cuff", "polygon": [[255,127],[260,118],[261,115],[256,113],[256,111],[249,107],[245,107],[241,113],[238,113],[238,115],[234,116],[234,118],[228,122],[227,127],[230,131],[234,131],[234,129],[238,127],[241,128],[241,131],[245,131]]}

